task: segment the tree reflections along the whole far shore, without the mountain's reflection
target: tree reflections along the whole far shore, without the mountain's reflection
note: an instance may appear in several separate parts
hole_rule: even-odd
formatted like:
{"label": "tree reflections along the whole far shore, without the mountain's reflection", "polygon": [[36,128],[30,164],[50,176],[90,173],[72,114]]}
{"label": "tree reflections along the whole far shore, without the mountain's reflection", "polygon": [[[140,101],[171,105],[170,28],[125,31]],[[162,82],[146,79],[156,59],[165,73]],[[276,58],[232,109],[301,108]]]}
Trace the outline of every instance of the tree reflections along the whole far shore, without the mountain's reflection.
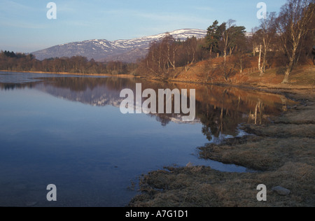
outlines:
{"label": "tree reflections along the whole far shore, without the mountain's reflection", "polygon": [[[127,78],[54,78],[55,87],[70,88],[73,91],[84,92],[87,88],[94,90],[96,87],[104,87],[112,90],[120,99],[119,92],[125,88],[134,90],[136,83],[142,83],[142,90],[151,88],[158,94],[158,89],[169,88],[173,90],[181,85],[151,82],[145,80],[134,80]],[[189,89],[187,85],[184,87]],[[193,87],[194,88],[194,87]],[[283,104],[279,96],[274,94],[263,94],[239,90],[229,87],[204,86],[197,90],[196,117],[203,124],[202,133],[211,141],[213,137],[221,134],[236,135],[240,123],[248,122],[262,124],[267,114],[279,113],[281,108],[275,104]],[[158,97],[157,97],[158,99]],[[144,100],[143,100],[144,101]],[[166,102],[166,100],[165,100]],[[158,100],[157,100],[158,104]],[[165,104],[166,105],[166,104]],[[269,113],[265,113],[266,110]],[[174,103],[173,103],[174,110]],[[267,112],[268,112],[267,111]],[[177,114],[151,114],[162,126],[170,122],[180,122],[182,115]]]}

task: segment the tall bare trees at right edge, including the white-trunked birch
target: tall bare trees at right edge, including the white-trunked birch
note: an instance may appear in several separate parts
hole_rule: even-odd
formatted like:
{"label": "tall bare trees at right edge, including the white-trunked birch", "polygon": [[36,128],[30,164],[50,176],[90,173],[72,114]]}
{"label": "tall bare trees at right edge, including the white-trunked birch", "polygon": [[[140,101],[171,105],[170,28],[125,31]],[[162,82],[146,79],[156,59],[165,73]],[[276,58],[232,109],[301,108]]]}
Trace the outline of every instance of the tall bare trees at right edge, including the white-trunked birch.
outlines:
{"label": "tall bare trees at right edge, including the white-trunked birch", "polygon": [[311,58],[315,45],[314,6],[314,0],[288,0],[278,16],[269,13],[253,31],[251,41],[253,50],[259,48],[260,75],[270,60],[278,59],[285,66],[283,83],[288,83],[294,66]]}

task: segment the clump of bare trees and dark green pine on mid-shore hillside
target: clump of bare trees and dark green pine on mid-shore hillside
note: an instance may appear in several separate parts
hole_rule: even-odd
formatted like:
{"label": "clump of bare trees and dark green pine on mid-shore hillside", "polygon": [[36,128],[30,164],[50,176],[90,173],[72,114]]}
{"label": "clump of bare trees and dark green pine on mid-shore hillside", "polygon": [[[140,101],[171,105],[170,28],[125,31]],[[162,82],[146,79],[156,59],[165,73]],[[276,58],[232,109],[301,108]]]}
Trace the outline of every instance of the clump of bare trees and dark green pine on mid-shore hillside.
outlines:
{"label": "clump of bare trees and dark green pine on mid-shore hillside", "polygon": [[[158,78],[176,78],[181,71],[190,69],[196,62],[214,57],[223,57],[220,71],[225,80],[239,66],[245,68],[244,55],[248,50],[248,38],[245,36],[245,27],[237,26],[234,20],[219,25],[216,20],[207,30],[207,36],[202,39],[187,38],[186,41],[176,40],[167,34],[161,41],[151,43],[148,55],[139,64],[140,73],[148,73]],[[237,55],[228,64],[228,56]],[[181,69],[176,69],[181,68]]]}

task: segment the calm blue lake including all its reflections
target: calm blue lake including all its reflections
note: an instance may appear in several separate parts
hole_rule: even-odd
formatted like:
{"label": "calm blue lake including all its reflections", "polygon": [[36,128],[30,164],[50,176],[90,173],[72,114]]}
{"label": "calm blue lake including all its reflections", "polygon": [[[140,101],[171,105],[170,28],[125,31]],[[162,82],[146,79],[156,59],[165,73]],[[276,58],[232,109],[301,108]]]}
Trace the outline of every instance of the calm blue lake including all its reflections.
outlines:
{"label": "calm blue lake including all its reflections", "polygon": [[[120,91],[136,83],[196,89],[195,122],[123,115]],[[197,147],[241,136],[239,124],[263,124],[285,103],[237,88],[0,72],[0,206],[126,206],[141,174],[188,162],[246,172],[198,159]],[[57,202],[46,200],[48,184]]]}

